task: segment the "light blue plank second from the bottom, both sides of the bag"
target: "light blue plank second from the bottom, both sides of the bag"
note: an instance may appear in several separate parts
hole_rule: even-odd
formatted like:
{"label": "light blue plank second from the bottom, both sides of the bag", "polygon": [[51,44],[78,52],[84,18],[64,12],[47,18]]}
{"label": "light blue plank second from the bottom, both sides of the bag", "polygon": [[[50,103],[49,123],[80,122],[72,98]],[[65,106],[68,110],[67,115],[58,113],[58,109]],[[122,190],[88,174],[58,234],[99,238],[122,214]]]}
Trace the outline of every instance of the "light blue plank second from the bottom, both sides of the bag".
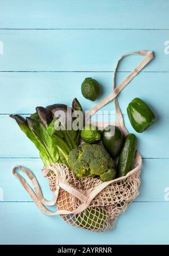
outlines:
{"label": "light blue plank second from the bottom, both sides of the bag", "polygon": [[[37,177],[41,185],[43,195],[47,200],[52,199],[47,179],[43,178],[40,159],[1,159],[0,160],[0,188],[3,189],[3,201],[32,201],[24,191],[19,180],[12,175],[12,168],[15,165],[28,167]],[[135,201],[165,201],[164,189],[169,187],[168,173],[169,159],[144,159],[141,171],[140,195]],[[23,174],[23,173],[21,173]],[[28,178],[23,174],[26,181],[32,186]],[[167,196],[167,195],[166,195]],[[1,200],[1,199],[0,199]]]}

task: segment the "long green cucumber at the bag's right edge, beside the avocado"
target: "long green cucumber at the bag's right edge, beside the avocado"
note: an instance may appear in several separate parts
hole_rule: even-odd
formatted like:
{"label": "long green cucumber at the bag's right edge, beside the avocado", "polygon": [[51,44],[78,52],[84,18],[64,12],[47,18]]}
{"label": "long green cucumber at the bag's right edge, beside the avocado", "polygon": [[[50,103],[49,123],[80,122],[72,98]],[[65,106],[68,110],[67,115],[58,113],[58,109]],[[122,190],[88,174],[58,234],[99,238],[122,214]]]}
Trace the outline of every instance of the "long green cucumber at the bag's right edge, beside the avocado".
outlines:
{"label": "long green cucumber at the bag's right edge, beside the avocado", "polygon": [[118,160],[118,177],[125,176],[132,170],[136,153],[137,138],[134,134],[128,134],[124,140],[122,151]]}

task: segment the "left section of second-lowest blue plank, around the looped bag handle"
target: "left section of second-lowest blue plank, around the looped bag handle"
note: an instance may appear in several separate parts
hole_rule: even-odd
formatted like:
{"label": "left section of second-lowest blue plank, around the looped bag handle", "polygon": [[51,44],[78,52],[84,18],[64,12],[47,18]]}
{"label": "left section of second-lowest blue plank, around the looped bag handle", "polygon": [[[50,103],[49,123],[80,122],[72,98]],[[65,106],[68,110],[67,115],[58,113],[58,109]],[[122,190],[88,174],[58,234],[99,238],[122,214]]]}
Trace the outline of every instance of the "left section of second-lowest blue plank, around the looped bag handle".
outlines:
{"label": "left section of second-lowest blue plank, around the looped bag handle", "polygon": [[[2,169],[0,187],[3,189],[3,201],[32,201],[32,198],[30,198],[28,193],[21,187],[19,180],[12,175],[12,168],[18,164],[28,167],[34,173],[41,185],[44,197],[46,197],[47,200],[52,200],[53,194],[50,191],[48,180],[45,179],[41,173],[43,164],[40,159],[1,159],[0,165],[2,165]],[[24,175],[24,173],[20,172],[20,174],[22,174],[26,182],[33,187],[28,177]]]}

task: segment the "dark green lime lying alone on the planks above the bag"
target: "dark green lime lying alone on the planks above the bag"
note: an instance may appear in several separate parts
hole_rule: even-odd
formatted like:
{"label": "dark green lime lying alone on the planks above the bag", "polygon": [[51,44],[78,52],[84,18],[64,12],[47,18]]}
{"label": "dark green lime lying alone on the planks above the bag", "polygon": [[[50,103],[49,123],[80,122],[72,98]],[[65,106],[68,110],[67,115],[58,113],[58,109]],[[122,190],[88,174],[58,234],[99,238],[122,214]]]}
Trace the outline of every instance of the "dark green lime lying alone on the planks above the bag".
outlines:
{"label": "dark green lime lying alone on the planks above the bag", "polygon": [[100,85],[91,77],[87,77],[82,82],[81,91],[84,98],[95,101],[100,94]]}

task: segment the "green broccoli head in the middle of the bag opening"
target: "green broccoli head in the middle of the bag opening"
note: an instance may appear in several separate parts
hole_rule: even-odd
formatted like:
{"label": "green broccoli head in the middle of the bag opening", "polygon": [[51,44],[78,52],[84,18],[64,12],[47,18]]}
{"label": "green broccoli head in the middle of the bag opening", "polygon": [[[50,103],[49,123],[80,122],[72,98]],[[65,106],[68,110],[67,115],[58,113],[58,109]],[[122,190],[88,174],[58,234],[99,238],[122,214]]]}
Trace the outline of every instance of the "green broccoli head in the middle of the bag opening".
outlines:
{"label": "green broccoli head in the middle of the bag opening", "polygon": [[68,161],[78,178],[98,176],[103,181],[115,178],[114,161],[102,145],[81,144],[70,151]]}

